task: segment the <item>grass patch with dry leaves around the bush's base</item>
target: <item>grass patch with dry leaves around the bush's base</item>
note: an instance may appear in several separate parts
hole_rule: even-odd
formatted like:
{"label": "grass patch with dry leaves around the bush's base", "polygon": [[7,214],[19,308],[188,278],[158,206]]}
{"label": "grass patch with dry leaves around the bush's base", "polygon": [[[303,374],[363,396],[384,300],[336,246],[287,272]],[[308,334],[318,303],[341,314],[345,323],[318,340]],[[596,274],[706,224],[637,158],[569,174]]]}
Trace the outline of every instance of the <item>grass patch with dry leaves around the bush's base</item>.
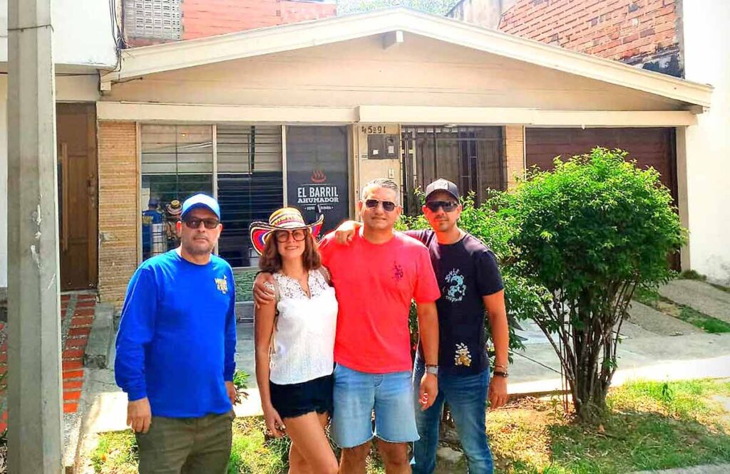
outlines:
{"label": "grass patch with dry leaves around the bush's base", "polygon": [[[488,416],[497,466],[507,473],[628,473],[730,462],[730,396],[717,381],[636,381],[612,389],[598,429],[532,400]],[[559,405],[558,405],[559,407]]]}

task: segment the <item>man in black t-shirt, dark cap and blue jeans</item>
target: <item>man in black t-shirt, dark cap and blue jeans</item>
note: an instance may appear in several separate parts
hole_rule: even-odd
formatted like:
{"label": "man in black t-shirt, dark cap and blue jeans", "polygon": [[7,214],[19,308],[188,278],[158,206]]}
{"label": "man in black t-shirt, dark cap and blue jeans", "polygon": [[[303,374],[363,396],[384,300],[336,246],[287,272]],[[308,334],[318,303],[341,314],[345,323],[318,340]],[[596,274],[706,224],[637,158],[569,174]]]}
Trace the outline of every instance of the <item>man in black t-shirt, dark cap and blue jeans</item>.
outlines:
{"label": "man in black t-shirt, dark cap and blue jeans", "polygon": [[[439,395],[431,408],[416,411],[420,440],[413,446],[413,473],[434,472],[439,421],[444,403],[448,403],[469,473],[491,474],[494,468],[485,432],[486,401],[488,398],[491,408],[507,402],[509,331],[502,277],[491,250],[458,228],[461,204],[456,184],[446,179],[429,184],[423,214],[432,230],[409,230],[407,234],[429,248],[441,289],[441,298],[436,302],[439,365],[424,366],[419,347],[413,380],[419,381],[426,370],[437,374]],[[338,241],[348,240],[354,224],[341,225]],[[484,335],[485,311],[496,351],[491,383]]]}

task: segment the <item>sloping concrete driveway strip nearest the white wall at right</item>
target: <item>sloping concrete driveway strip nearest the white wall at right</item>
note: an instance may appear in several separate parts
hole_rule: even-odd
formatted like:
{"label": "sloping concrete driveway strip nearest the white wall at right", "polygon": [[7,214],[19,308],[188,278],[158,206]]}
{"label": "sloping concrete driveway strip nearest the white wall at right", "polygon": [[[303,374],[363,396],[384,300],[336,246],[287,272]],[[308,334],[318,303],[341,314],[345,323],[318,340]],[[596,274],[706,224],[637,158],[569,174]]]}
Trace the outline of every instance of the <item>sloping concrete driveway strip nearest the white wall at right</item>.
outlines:
{"label": "sloping concrete driveway strip nearest the white wall at right", "polygon": [[730,293],[696,280],[673,280],[659,294],[697,311],[730,322]]}

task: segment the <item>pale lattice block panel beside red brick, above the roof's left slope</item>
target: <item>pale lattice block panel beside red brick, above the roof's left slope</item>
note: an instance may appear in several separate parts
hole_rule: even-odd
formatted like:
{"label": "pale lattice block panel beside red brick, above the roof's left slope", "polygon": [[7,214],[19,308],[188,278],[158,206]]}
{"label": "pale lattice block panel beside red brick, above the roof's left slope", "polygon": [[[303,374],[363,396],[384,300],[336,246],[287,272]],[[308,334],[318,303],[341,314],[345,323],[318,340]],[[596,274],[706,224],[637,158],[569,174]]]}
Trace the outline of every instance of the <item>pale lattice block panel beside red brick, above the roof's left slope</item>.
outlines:
{"label": "pale lattice block panel beside red brick, above the roof's left slope", "polygon": [[124,0],[124,31],[131,38],[182,39],[181,0]]}

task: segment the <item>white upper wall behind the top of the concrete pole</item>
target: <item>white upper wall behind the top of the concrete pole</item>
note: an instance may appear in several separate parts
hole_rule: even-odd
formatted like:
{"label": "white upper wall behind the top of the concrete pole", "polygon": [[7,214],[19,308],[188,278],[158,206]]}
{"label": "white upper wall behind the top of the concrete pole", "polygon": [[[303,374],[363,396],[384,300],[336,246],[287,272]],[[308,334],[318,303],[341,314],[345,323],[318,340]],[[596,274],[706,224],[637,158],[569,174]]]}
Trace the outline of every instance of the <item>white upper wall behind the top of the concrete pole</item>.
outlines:
{"label": "white upper wall behind the top of the concrete pole", "polygon": [[[110,0],[52,0],[56,64],[113,67],[117,63]],[[0,0],[0,62],[7,62],[7,0]]]}

